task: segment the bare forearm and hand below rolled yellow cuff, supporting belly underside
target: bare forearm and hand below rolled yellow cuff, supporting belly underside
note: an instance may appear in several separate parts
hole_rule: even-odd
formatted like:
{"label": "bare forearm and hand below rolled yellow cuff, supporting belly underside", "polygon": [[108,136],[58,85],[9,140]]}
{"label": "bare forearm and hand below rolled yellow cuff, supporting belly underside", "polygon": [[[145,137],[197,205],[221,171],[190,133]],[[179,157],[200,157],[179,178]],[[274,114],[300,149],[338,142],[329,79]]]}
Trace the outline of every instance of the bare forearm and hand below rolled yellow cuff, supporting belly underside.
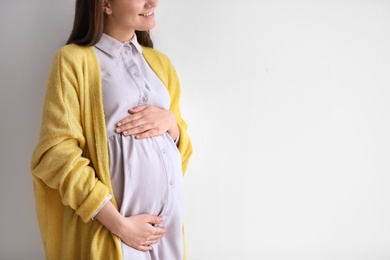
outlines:
{"label": "bare forearm and hand below rolled yellow cuff, supporting belly underside", "polygon": [[150,245],[158,243],[165,234],[164,228],[153,226],[161,224],[162,217],[147,214],[123,217],[111,201],[104,205],[96,219],[124,243],[144,252],[152,250]]}

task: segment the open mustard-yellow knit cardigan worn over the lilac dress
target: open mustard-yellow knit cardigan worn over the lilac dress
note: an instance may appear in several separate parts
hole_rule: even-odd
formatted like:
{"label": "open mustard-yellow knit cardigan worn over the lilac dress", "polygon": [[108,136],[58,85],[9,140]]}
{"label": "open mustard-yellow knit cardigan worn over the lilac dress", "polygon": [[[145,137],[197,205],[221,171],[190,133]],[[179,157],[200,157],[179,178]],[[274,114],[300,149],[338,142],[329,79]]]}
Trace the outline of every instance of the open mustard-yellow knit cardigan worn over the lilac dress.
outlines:
{"label": "open mustard-yellow knit cardigan worn over the lilac dress", "polygon": [[[154,49],[144,47],[143,55],[168,89],[170,110],[180,129],[184,173],[192,146],[180,115],[175,69]],[[62,47],[53,59],[31,160],[36,212],[49,260],[122,259],[118,237],[91,220],[108,194],[117,206],[105,128],[100,68],[93,47]]]}

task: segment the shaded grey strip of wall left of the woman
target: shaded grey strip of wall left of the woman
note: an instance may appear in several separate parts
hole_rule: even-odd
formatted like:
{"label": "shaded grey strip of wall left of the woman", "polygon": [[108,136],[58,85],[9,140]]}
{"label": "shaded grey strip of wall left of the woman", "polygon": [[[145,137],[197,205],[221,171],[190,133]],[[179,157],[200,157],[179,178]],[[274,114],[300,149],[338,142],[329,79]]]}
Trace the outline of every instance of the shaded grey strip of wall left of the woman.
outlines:
{"label": "shaded grey strip of wall left of the woman", "polygon": [[12,0],[0,7],[0,259],[44,259],[29,164],[55,50],[73,0]]}

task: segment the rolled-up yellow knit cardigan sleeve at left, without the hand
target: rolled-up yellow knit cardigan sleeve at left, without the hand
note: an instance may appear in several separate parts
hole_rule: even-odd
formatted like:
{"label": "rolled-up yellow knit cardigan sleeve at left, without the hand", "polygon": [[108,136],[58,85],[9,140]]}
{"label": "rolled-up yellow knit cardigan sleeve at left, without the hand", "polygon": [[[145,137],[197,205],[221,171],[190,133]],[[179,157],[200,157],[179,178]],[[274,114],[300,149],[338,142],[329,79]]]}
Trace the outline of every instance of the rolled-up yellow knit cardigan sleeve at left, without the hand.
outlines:
{"label": "rolled-up yellow knit cardigan sleeve at left, without the hand", "polygon": [[[96,177],[86,146],[80,100],[83,68],[76,57],[58,51],[47,82],[38,145],[31,171],[35,189],[57,190],[61,201],[76,211],[83,221],[91,220],[109,194]],[[39,201],[38,201],[39,203]]]}

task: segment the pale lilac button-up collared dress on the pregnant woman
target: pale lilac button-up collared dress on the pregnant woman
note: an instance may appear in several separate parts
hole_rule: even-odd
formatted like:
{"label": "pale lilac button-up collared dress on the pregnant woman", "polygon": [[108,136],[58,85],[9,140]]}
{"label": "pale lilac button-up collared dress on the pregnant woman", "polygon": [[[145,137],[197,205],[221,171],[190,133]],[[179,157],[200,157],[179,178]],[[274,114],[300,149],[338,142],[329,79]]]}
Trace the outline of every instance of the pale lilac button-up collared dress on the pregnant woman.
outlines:
{"label": "pale lilac button-up collared dress on the pregnant woman", "polygon": [[110,175],[114,196],[123,216],[163,216],[165,236],[153,250],[141,252],[122,242],[123,259],[181,260],[181,157],[168,133],[146,139],[115,132],[130,108],[149,104],[170,107],[168,91],[142,55],[136,36],[119,42],[103,34],[95,46],[101,75]]}

